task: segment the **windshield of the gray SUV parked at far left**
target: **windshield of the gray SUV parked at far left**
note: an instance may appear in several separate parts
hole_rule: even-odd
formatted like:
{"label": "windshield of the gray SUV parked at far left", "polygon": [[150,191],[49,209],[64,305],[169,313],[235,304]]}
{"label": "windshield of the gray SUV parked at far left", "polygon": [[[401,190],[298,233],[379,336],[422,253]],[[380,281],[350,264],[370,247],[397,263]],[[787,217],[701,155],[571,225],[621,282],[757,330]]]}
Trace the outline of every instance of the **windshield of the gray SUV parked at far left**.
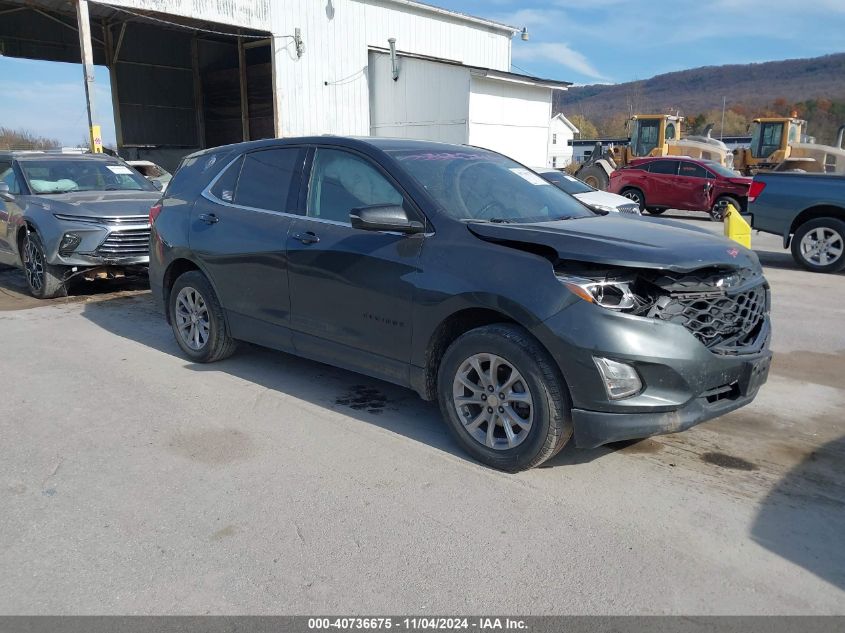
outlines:
{"label": "windshield of the gray SUV parked at far left", "polygon": [[156,191],[138,172],[99,159],[22,160],[21,170],[33,193],[70,191]]}

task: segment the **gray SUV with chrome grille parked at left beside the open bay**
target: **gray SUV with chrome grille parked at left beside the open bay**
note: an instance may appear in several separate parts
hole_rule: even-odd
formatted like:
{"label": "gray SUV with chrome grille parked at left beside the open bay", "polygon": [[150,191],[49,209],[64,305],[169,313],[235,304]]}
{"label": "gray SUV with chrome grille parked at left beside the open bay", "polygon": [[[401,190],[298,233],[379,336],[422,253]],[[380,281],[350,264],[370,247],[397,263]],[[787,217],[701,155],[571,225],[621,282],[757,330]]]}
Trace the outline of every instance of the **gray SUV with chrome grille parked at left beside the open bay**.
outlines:
{"label": "gray SUV with chrome grille parked at left beside the open bay", "polygon": [[40,299],[66,294],[72,277],[146,267],[160,195],[118,158],[0,152],[0,264],[23,268]]}

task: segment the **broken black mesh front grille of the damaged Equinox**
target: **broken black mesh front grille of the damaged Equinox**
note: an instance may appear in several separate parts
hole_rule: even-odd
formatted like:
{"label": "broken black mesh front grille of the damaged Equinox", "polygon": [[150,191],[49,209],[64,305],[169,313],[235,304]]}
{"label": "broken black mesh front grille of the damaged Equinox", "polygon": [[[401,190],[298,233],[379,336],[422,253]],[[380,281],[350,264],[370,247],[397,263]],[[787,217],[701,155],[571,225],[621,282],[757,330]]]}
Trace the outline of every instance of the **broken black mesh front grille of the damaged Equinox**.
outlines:
{"label": "broken black mesh front grille of the damaged Equinox", "polygon": [[663,276],[655,283],[669,293],[648,316],[678,323],[718,354],[756,352],[767,336],[769,290],[750,270]]}

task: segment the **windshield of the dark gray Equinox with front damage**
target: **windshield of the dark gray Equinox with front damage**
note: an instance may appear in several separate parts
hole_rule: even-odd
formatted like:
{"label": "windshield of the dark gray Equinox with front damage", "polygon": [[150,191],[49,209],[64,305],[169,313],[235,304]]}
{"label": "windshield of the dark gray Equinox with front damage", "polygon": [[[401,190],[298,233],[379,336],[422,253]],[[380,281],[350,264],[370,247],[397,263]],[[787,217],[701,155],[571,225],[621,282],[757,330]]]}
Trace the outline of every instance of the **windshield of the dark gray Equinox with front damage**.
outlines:
{"label": "windshield of the dark gray Equinox with front damage", "polygon": [[389,152],[456,220],[550,222],[595,214],[530,169],[482,149]]}

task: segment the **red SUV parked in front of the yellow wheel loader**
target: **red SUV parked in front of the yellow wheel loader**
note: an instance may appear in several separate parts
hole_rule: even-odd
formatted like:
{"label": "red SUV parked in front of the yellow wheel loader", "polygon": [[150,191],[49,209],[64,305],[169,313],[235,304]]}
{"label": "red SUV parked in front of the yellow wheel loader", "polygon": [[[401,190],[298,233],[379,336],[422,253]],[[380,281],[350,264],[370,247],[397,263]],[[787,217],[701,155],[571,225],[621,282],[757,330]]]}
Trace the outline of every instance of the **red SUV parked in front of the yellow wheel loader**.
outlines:
{"label": "red SUV parked in front of the yellow wheel loader", "polygon": [[751,180],[713,161],[661,156],[634,160],[612,172],[607,190],[654,215],[666,209],[707,211],[721,222],[729,202],[745,209]]}

